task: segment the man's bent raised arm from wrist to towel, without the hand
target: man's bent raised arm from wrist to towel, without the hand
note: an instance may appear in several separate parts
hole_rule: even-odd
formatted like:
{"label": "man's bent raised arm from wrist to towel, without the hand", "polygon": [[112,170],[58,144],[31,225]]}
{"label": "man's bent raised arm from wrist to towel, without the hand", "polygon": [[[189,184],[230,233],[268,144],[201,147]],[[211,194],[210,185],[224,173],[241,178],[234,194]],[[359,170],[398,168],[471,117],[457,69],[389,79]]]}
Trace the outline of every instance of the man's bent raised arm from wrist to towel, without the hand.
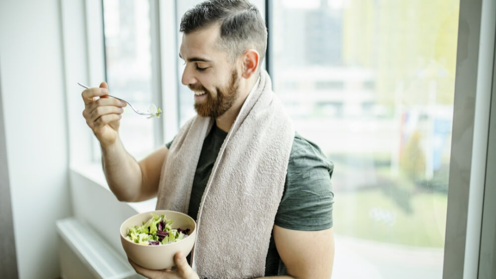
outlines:
{"label": "man's bent raised arm from wrist to towel, without the hand", "polygon": [[157,195],[160,171],[167,156],[161,147],[140,162],[129,155],[121,142],[102,147],[102,166],[110,189],[120,201],[136,202]]}

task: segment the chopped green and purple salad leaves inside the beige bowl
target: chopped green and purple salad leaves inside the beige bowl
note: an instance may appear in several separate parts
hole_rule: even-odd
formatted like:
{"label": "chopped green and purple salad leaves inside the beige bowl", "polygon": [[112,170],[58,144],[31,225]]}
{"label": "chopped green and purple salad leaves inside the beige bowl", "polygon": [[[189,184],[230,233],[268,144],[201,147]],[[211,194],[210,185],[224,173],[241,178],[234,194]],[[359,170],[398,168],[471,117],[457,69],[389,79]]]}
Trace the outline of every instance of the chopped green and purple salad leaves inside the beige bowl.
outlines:
{"label": "chopped green and purple salad leaves inside the beige bowl", "polygon": [[179,241],[188,236],[189,228],[172,228],[172,220],[165,215],[151,214],[152,218],[127,229],[126,238],[141,245],[162,245]]}

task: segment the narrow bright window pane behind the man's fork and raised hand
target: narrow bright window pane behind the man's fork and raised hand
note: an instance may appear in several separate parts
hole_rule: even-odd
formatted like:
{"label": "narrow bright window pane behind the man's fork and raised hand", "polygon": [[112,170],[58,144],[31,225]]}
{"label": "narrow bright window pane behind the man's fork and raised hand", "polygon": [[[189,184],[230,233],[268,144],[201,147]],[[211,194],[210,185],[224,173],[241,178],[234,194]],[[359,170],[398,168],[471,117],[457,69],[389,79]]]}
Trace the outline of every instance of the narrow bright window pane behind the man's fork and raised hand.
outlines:
{"label": "narrow bright window pane behind the man's fork and raised hand", "polygon": [[[103,10],[110,93],[146,111],[152,103],[149,1],[103,0]],[[153,121],[124,108],[120,135],[136,159],[153,150]]]}

